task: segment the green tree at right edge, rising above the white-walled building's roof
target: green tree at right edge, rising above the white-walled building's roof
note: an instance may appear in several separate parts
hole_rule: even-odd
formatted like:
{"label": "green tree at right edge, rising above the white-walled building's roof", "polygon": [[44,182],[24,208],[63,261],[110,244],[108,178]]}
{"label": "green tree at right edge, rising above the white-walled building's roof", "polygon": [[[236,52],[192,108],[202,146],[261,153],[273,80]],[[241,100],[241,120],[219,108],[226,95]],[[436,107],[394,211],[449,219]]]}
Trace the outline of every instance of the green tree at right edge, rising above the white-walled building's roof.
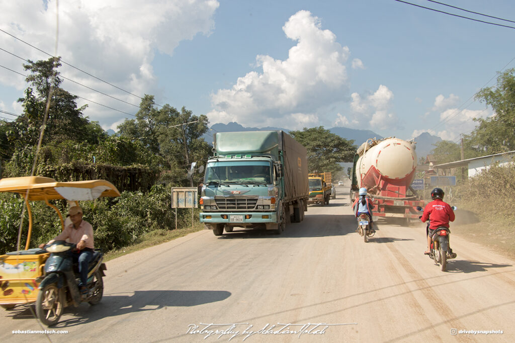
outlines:
{"label": "green tree at right edge, rising above the white-walled building's roof", "polygon": [[483,88],[475,98],[490,106],[495,115],[474,118],[478,125],[466,136],[468,145],[481,155],[515,150],[515,68],[501,73],[495,87]]}

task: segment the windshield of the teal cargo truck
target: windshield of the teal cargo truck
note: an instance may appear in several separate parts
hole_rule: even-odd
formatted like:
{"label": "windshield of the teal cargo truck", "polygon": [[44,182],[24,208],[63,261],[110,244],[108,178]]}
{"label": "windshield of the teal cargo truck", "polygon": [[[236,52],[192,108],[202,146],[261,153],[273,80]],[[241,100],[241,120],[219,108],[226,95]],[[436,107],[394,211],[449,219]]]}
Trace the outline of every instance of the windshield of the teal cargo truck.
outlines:
{"label": "windshield of the teal cargo truck", "polygon": [[224,161],[208,164],[204,184],[271,184],[271,180],[266,161]]}

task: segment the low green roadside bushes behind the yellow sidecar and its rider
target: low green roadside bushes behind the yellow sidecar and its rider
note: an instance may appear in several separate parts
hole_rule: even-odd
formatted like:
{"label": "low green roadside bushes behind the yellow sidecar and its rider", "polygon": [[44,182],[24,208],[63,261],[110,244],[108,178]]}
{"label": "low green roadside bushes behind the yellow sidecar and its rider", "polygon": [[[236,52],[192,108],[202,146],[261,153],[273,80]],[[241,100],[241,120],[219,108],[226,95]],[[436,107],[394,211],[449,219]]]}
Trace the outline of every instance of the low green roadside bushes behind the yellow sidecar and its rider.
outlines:
{"label": "low green roadside bushes behind the yellow sidecar and its rider", "polygon": [[[60,232],[60,220],[56,212],[43,201],[31,202],[33,230],[30,248],[48,242]],[[66,215],[65,201],[57,207]],[[80,203],[83,219],[93,225],[95,248],[105,252],[135,243],[145,233],[175,229],[175,209],[171,209],[170,188],[152,186],[149,192],[123,192],[117,198],[99,198]],[[0,194],[0,254],[16,247],[23,200],[13,194]],[[179,209],[177,226],[191,225],[191,209]],[[198,218],[198,210],[195,217]],[[28,216],[25,215],[21,248],[25,248]]]}

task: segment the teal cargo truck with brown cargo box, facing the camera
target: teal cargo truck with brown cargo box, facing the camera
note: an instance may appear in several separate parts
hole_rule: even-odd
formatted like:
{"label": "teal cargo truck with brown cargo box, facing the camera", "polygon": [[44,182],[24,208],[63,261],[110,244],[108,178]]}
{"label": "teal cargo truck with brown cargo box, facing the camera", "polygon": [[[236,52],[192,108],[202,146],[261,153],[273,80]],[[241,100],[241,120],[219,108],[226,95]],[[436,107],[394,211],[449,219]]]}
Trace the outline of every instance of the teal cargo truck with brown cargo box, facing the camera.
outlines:
{"label": "teal cargo truck with brown cargo box, facing the camera", "polygon": [[307,211],[306,148],[283,131],[218,132],[200,197],[215,236],[235,227],[280,234]]}

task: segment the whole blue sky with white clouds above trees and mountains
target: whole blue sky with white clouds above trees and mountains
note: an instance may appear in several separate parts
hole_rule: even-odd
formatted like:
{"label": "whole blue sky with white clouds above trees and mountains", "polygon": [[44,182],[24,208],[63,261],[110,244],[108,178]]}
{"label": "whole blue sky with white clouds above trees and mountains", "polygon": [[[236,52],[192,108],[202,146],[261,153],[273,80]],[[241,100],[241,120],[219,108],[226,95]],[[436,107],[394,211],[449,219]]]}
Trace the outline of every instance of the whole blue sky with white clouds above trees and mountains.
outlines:
{"label": "whole blue sky with white clouds above trees and mountains", "polygon": [[[509,0],[442,2],[515,21]],[[471,97],[494,85],[497,72],[515,67],[515,29],[394,0],[70,0],[59,3],[58,14],[57,55],[65,62],[124,91],[155,95],[157,104],[206,114],[210,125],[345,126],[403,139],[427,131],[457,140],[474,128],[473,117],[493,115]],[[56,3],[4,1],[0,28],[54,54]],[[2,31],[0,47],[0,110],[20,114],[16,99],[27,85],[5,67],[23,74],[24,62],[12,54],[48,56]],[[139,104],[138,97],[67,65],[60,71]],[[105,129],[116,130],[138,110],[67,80],[63,87],[81,96],[79,105],[89,104],[84,114]]]}

